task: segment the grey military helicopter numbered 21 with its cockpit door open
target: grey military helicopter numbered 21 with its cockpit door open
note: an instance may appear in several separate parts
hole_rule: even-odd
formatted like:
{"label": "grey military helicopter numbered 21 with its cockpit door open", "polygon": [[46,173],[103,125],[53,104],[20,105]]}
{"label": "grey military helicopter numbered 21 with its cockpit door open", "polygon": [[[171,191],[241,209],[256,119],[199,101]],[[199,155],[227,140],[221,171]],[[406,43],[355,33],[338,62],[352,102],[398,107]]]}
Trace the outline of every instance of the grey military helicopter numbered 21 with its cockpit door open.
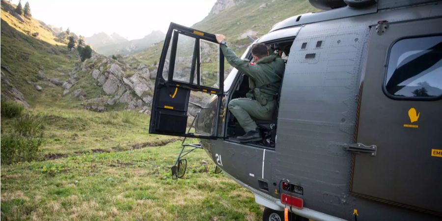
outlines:
{"label": "grey military helicopter numbered 21 with its cockpit door open", "polygon": [[[183,141],[173,177],[203,148],[255,195],[266,221],[285,211],[298,220],[441,220],[442,1],[309,1],[324,11],[281,21],[252,43],[286,60],[258,142],[234,139],[244,131],[227,109],[249,91],[248,77],[233,69],[224,79],[214,34],[170,24],[149,133],[201,140]],[[252,59],[250,47],[242,58]]]}

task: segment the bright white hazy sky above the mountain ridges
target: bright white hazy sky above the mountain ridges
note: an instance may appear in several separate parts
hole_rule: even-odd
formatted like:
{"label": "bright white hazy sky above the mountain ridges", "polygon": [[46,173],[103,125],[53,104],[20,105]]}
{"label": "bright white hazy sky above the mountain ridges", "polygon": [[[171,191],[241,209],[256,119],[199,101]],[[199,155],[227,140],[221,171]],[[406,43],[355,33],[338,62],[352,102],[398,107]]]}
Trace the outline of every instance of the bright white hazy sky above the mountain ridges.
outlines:
{"label": "bright white hazy sky above the mountain ridges", "polygon": [[[152,30],[166,33],[170,22],[192,26],[209,14],[216,0],[22,0],[32,17],[86,37],[116,32],[129,40]],[[18,4],[18,0],[12,0]]]}

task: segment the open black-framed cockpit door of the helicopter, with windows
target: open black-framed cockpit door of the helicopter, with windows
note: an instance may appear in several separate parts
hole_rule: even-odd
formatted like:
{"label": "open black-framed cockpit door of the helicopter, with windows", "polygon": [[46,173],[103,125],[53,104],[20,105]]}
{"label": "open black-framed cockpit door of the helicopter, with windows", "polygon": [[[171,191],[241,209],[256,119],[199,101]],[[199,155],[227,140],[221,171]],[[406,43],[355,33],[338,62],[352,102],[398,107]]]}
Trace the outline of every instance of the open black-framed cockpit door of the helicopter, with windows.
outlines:
{"label": "open black-framed cockpit door of the helicopter, with windows", "polygon": [[[149,133],[218,138],[223,73],[224,56],[214,34],[171,23],[158,63]],[[194,104],[190,99],[194,92],[213,96],[212,105]],[[211,121],[214,130],[208,134],[191,133],[189,104],[214,112]]]}

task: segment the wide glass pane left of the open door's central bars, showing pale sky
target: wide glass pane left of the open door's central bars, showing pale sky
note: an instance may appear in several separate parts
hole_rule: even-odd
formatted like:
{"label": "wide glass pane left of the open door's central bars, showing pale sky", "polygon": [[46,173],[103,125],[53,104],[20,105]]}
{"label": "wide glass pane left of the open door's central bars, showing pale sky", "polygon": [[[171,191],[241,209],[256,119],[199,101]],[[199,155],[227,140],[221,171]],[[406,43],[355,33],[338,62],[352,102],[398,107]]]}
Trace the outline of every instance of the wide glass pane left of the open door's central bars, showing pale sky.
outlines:
{"label": "wide glass pane left of the open door's central bars, showing pale sky", "polygon": [[[192,72],[193,54],[195,50],[195,38],[179,34],[175,56],[175,67],[173,70],[173,80],[185,83],[191,83],[194,80]],[[195,56],[196,59],[196,56]],[[196,82],[196,81],[193,81]],[[192,83],[193,83],[192,82]]]}

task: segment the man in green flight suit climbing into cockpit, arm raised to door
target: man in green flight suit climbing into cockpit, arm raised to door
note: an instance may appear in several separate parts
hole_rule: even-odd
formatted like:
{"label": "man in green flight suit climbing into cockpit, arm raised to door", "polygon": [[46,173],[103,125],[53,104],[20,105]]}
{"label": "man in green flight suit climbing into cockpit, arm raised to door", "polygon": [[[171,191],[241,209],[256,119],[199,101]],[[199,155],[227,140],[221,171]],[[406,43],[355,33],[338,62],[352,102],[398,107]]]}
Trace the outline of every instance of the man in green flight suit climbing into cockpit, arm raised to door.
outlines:
{"label": "man in green flight suit climbing into cockpit, arm raised to door", "polygon": [[254,62],[243,60],[227,47],[224,35],[216,34],[216,37],[229,64],[249,76],[251,84],[254,84],[250,86],[253,88],[250,88],[252,93],[248,94],[248,98],[233,99],[228,104],[230,112],[246,131],[244,136],[237,139],[242,142],[259,141],[262,137],[251,117],[259,120],[272,119],[276,105],[275,96],[285,69],[284,61],[276,55],[270,55],[264,44],[252,46]]}

